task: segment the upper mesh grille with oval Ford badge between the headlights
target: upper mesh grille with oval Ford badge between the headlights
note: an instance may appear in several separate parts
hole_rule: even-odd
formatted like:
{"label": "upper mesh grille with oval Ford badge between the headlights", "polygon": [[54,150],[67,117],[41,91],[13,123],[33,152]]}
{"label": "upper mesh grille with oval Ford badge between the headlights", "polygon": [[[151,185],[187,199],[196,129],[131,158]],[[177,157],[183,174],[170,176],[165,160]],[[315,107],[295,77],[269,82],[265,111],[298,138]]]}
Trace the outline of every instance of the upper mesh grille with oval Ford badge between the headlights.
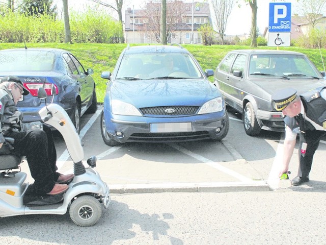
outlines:
{"label": "upper mesh grille with oval Ford badge between the headlights", "polygon": [[[180,115],[196,115],[198,106],[157,106],[157,107],[144,107],[140,108],[144,115],[169,115],[169,116],[180,116]],[[167,112],[172,111],[174,112]]]}

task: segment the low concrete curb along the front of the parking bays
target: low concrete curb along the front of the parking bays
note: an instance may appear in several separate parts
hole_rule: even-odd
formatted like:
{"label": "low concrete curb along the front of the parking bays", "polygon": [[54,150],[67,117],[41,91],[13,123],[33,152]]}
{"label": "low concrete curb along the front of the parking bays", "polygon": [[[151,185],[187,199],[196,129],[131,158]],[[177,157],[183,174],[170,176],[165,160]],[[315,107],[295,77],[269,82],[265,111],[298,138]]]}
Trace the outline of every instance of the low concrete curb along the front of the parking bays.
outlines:
{"label": "low concrete curb along the front of the parking bays", "polygon": [[110,185],[110,192],[125,193],[157,193],[157,192],[229,192],[229,191],[270,191],[264,181],[216,182],[216,183],[155,183]]}

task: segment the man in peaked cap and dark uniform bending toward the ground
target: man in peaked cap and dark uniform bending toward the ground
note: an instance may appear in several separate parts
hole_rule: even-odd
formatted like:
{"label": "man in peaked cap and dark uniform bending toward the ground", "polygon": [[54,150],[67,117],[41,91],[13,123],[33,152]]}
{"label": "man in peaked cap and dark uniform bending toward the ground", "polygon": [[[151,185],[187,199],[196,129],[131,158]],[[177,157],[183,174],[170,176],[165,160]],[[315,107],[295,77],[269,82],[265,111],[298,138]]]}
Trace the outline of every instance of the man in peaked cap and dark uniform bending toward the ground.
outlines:
{"label": "man in peaked cap and dark uniform bending toward the ground", "polygon": [[298,149],[300,167],[292,185],[309,181],[313,156],[320,139],[326,135],[326,87],[297,95],[296,90],[287,88],[275,92],[271,99],[274,108],[284,115],[285,140],[282,167],[279,176],[286,173],[293,154],[297,132],[300,134]]}

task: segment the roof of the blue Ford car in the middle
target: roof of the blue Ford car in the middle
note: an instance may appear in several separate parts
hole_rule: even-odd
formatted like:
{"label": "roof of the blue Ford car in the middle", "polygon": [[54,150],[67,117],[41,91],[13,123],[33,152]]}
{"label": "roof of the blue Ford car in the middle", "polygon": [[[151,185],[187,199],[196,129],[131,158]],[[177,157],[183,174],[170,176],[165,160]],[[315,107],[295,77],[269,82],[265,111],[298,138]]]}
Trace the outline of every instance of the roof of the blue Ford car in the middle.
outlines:
{"label": "roof of the blue Ford car in the middle", "polygon": [[184,47],[177,45],[140,45],[127,46],[125,54],[135,53],[189,53]]}

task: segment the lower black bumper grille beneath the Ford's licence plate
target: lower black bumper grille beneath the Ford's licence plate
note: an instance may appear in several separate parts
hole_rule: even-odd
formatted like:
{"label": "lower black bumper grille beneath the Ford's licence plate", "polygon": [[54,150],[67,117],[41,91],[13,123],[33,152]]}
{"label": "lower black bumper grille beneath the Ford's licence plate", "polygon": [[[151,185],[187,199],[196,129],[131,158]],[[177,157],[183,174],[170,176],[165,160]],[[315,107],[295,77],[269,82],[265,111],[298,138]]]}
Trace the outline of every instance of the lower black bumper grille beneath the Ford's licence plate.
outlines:
{"label": "lower black bumper grille beneath the Ford's licence plate", "polygon": [[182,132],[182,133],[151,133],[151,134],[132,134],[129,142],[182,142],[192,140],[210,139],[207,131]]}

